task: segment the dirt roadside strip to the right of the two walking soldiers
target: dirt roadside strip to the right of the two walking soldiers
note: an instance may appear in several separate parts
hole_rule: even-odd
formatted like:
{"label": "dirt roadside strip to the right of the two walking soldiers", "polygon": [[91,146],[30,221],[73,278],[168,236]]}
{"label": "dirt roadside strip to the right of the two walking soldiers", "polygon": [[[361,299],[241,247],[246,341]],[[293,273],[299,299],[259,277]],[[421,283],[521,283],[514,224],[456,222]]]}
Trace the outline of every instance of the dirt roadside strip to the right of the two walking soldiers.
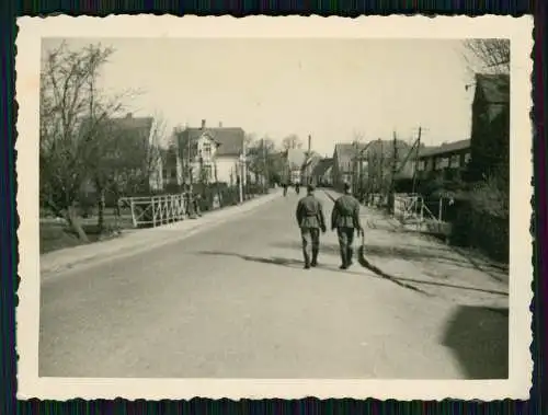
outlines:
{"label": "dirt roadside strip to the right of the two walking soldiers", "polygon": [[[326,191],[330,199],[340,196]],[[384,278],[461,304],[507,307],[509,274],[499,264],[433,237],[410,232],[369,207],[361,209],[365,228],[363,256],[369,270]]]}

